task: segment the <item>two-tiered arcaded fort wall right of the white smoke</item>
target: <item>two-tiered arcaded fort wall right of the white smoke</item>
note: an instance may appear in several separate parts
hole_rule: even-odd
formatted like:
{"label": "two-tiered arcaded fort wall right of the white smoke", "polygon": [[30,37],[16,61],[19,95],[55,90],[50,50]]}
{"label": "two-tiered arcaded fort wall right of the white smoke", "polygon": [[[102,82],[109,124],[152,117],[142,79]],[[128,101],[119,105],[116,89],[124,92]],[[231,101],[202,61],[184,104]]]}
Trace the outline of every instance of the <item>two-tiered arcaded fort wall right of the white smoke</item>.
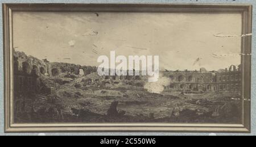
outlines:
{"label": "two-tiered arcaded fort wall right of the white smoke", "polygon": [[241,65],[230,66],[219,72],[166,71],[164,76],[171,79],[168,90],[179,91],[238,91],[241,89]]}

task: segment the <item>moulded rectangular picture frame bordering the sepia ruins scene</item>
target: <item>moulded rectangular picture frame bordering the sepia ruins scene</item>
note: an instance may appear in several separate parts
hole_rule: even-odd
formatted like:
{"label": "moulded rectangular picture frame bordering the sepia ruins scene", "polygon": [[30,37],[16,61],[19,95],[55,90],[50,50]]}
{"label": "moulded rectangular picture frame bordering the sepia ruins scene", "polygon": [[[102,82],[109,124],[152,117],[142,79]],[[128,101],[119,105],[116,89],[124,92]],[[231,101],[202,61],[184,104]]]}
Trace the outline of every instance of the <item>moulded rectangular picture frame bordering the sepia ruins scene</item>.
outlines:
{"label": "moulded rectangular picture frame bordering the sepia ruins scene", "polygon": [[[177,12],[242,14],[242,124],[167,123],[52,123],[15,124],[13,121],[13,12]],[[251,98],[251,5],[180,4],[3,4],[3,43],[5,71],[5,132],[250,132]]]}

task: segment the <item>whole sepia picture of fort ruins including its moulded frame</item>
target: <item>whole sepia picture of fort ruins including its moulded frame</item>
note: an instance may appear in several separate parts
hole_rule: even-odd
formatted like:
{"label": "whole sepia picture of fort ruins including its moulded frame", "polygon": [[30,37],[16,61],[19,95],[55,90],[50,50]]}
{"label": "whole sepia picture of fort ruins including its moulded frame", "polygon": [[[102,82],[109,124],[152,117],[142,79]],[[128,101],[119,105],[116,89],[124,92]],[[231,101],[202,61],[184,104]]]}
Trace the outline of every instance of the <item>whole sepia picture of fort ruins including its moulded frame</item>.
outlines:
{"label": "whole sepia picture of fort ruins including its moulded frame", "polygon": [[3,4],[6,132],[250,132],[251,5]]}

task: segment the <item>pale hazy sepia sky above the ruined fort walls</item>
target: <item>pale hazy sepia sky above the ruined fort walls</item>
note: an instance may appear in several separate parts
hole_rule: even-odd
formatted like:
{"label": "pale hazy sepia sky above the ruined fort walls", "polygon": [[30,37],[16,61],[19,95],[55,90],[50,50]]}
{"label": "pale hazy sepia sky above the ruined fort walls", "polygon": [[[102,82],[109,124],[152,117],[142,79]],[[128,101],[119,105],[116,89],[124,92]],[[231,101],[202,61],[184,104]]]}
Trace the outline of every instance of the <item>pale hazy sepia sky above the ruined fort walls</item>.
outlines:
{"label": "pale hazy sepia sky above the ruined fort walls", "polygon": [[[241,62],[241,14],[14,12],[14,47],[39,59],[98,66],[100,55],[159,55],[160,69]],[[235,37],[216,37],[236,35]],[[224,55],[224,56],[218,56]]]}

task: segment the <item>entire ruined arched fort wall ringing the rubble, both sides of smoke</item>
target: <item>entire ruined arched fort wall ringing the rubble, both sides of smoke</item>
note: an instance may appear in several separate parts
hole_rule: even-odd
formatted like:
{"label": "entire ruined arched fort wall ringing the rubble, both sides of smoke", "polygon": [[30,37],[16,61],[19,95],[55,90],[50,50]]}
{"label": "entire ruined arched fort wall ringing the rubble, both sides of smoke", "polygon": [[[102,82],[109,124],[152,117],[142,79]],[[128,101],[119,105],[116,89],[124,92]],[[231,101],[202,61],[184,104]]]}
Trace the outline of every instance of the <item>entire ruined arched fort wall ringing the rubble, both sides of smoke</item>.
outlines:
{"label": "entire ruined arched fort wall ringing the rubble, both sides of smoke", "polygon": [[[14,53],[14,64],[18,71],[25,73],[36,72],[37,75],[47,75],[55,77],[61,73],[71,73],[79,75],[88,75],[96,73],[97,68],[92,66],[81,66],[75,64],[49,62],[47,60],[39,60],[32,56],[27,56],[23,52]],[[230,66],[225,72],[202,72],[202,71],[164,71],[160,72],[160,76],[170,79],[170,85],[166,86],[168,90],[180,91],[232,91],[241,88],[241,70],[234,66]],[[142,81],[145,83],[147,76],[105,76],[104,79],[112,79],[115,81]],[[160,77],[161,78],[161,77]]]}

